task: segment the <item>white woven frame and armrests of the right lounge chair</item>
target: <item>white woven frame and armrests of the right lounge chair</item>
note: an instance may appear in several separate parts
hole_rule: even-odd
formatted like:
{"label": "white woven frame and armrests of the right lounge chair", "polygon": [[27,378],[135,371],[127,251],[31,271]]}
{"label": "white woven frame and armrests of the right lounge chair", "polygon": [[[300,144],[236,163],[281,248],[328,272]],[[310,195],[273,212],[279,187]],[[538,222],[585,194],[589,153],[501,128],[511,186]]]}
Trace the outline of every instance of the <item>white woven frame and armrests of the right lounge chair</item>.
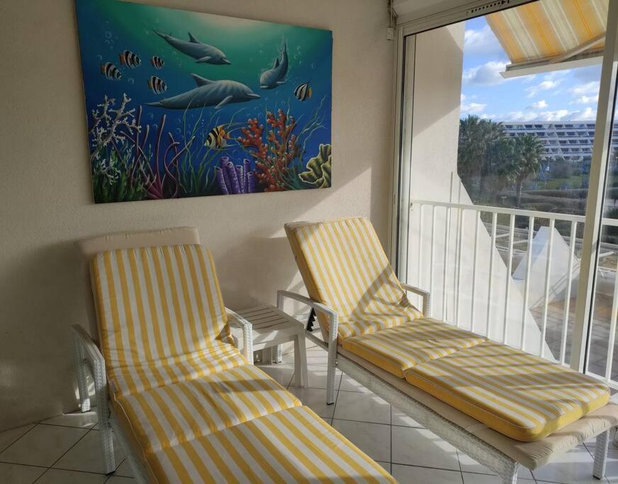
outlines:
{"label": "white woven frame and armrests of the right lounge chair", "polygon": [[[422,313],[424,315],[429,315],[429,292],[403,282],[400,284],[405,291],[415,293],[422,297]],[[339,327],[339,320],[337,319],[337,312],[335,310],[297,293],[277,291],[277,307],[280,310],[283,310],[283,300],[286,298],[308,305],[310,308],[313,308],[316,313],[322,313],[329,320],[327,342],[322,341],[322,339],[316,337],[315,334],[305,331],[306,337],[328,352],[326,388],[328,405],[335,403],[335,370],[339,368],[365,388],[368,388],[388,403],[398,407],[405,415],[408,415],[422,424],[426,429],[434,432],[438,437],[449,442],[449,444],[456,447],[456,449],[461,450],[464,454],[490,468],[498,474],[503,484],[517,483],[517,471],[522,464],[503,454],[498,449],[495,449],[495,447],[476,437],[476,435],[468,432],[466,429],[463,429],[463,427],[459,427],[459,425],[445,419],[442,415],[439,415],[437,412],[427,407],[427,405],[420,403],[407,393],[395,388],[363,366],[360,366],[342,354],[337,354],[337,330]],[[609,429],[601,432],[596,437],[597,442],[592,475],[597,479],[602,479],[605,477],[605,467],[607,463]],[[580,442],[573,444],[573,447],[578,443]],[[567,450],[569,449],[565,449],[565,451]]]}

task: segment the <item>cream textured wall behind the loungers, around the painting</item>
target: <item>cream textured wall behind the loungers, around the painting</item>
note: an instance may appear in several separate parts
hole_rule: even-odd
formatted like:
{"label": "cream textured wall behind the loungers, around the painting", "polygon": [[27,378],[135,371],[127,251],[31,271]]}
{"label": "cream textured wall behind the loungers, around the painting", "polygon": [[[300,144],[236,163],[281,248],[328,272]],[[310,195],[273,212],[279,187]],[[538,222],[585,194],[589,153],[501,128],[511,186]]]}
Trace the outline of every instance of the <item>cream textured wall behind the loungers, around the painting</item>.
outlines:
{"label": "cream textured wall behind the loungers, around the painting", "polygon": [[95,206],[72,0],[0,3],[0,430],[74,410],[69,327],[85,323],[73,242],[196,225],[225,303],[302,286],[282,226],[369,216],[386,243],[393,47],[386,0],[148,0],[333,30],[333,188]]}

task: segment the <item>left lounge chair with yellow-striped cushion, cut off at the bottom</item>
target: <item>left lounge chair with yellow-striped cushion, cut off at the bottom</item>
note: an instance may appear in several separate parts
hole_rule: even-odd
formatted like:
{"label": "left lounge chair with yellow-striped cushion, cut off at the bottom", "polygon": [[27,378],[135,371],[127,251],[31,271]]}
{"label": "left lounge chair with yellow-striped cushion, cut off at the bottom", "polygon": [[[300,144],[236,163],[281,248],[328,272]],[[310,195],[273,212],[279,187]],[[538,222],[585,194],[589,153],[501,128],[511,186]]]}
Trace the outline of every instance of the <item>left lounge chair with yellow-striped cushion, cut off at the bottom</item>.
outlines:
{"label": "left lounge chair with yellow-striped cushion, cut off at the bottom", "polygon": [[[114,435],[142,482],[395,482],[249,364],[251,325],[223,305],[198,243],[184,228],[80,244],[99,344],[74,326],[79,395],[88,410],[90,373],[106,473]],[[244,355],[229,320],[244,328]]]}

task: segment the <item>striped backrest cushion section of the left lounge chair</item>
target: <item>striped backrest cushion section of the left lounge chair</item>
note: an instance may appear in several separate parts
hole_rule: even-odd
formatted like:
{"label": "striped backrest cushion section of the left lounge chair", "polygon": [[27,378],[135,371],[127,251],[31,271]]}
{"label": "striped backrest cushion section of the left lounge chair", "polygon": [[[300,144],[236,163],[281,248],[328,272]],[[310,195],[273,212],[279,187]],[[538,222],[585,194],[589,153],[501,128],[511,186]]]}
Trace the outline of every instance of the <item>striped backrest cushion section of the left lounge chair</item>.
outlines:
{"label": "striped backrest cushion section of the left lounge chair", "polygon": [[200,245],[103,252],[91,263],[91,278],[110,368],[232,342],[215,265]]}

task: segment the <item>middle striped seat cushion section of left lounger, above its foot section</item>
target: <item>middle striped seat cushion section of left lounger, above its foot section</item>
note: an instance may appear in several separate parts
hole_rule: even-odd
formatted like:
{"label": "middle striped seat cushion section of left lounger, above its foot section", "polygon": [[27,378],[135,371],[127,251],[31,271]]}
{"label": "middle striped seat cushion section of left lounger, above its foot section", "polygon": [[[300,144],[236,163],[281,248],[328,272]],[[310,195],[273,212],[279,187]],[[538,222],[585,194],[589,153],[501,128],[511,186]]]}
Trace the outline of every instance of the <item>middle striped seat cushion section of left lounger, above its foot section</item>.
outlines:
{"label": "middle striped seat cushion section of left lounger, above its foot section", "polygon": [[279,383],[247,364],[120,397],[115,408],[130,422],[146,454],[300,405]]}

